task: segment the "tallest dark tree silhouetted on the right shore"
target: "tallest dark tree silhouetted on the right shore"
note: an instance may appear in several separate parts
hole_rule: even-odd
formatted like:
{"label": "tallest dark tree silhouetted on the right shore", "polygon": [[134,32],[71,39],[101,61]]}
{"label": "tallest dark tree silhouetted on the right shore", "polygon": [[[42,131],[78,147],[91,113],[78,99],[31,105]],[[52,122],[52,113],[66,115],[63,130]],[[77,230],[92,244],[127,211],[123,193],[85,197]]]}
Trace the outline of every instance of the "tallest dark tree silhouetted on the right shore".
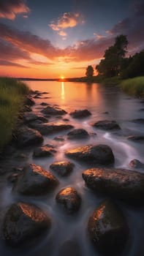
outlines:
{"label": "tallest dark tree silhouetted on the right shore", "polygon": [[125,35],[121,34],[115,38],[115,44],[105,50],[104,59],[96,65],[99,75],[113,77],[120,74],[127,45],[128,41]]}

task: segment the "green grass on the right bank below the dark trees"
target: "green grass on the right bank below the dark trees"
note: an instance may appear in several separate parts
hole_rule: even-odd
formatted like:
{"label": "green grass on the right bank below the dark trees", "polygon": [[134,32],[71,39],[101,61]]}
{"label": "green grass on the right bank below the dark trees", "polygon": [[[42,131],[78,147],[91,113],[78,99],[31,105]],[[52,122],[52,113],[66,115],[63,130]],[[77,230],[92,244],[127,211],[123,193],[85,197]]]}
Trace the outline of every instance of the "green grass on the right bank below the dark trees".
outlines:
{"label": "green grass on the right bank below the dark trees", "polygon": [[144,98],[144,76],[126,79],[120,86],[126,93]]}

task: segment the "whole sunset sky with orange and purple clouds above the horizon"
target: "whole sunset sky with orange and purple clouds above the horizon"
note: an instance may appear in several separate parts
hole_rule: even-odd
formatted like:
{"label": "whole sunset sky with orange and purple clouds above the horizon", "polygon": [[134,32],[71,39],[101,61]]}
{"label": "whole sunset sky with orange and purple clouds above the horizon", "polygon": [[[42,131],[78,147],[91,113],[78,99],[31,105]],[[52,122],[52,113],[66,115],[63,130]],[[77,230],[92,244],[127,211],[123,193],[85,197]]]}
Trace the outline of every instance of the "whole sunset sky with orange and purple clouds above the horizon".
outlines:
{"label": "whole sunset sky with orange and purple clouds above the horizon", "polygon": [[144,49],[144,0],[0,0],[0,75],[81,77],[119,34]]}

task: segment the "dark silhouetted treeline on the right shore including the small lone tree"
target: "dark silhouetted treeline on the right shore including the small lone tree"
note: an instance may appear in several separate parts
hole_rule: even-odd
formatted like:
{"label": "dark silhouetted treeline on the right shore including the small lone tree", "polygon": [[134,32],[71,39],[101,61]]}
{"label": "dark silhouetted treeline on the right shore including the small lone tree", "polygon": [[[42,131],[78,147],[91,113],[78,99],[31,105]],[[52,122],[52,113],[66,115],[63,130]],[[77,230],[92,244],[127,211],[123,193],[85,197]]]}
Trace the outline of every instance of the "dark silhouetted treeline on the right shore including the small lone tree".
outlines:
{"label": "dark silhouetted treeline on the right shore including the small lone tree", "polygon": [[[127,37],[123,34],[115,38],[114,45],[105,50],[103,59],[96,65],[98,76],[103,78],[134,78],[144,75],[144,50],[126,57]],[[86,69],[86,77],[94,76],[94,68],[90,65]]]}

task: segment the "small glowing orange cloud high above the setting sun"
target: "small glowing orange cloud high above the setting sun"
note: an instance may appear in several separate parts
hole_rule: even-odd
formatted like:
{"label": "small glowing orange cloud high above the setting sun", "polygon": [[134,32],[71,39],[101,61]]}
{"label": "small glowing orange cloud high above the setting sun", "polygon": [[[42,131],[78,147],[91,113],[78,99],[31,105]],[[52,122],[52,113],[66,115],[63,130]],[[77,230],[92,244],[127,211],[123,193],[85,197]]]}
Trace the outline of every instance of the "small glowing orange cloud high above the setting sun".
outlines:
{"label": "small glowing orange cloud high above the setting sun", "polygon": [[83,24],[84,19],[80,13],[74,12],[65,12],[60,18],[57,20],[53,20],[49,26],[54,31],[59,31],[61,29],[68,29],[77,26],[78,24]]}

